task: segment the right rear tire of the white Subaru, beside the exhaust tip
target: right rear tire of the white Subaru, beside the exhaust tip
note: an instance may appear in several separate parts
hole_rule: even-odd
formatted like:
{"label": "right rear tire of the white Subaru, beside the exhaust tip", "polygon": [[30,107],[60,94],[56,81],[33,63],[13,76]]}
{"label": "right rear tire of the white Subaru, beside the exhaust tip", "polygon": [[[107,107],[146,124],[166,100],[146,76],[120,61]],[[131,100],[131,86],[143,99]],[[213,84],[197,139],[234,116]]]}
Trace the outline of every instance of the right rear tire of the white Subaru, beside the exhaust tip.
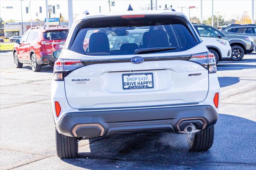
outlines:
{"label": "right rear tire of the white Subaru, beside the exhaust tip", "polygon": [[202,129],[197,133],[186,135],[188,146],[194,151],[204,151],[212,147],[214,140],[214,126]]}

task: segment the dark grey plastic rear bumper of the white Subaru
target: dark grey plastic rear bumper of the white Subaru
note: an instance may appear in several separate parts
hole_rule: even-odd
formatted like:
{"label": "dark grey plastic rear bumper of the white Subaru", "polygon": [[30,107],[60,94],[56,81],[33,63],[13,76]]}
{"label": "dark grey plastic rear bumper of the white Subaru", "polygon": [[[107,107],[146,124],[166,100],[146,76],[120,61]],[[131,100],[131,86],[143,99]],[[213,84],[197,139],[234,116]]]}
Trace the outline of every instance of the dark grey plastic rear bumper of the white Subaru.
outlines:
{"label": "dark grey plastic rear bumper of the white Subaru", "polygon": [[202,129],[214,125],[217,119],[218,114],[211,105],[80,111],[63,115],[56,129],[66,136],[97,137],[183,131],[187,123]]}

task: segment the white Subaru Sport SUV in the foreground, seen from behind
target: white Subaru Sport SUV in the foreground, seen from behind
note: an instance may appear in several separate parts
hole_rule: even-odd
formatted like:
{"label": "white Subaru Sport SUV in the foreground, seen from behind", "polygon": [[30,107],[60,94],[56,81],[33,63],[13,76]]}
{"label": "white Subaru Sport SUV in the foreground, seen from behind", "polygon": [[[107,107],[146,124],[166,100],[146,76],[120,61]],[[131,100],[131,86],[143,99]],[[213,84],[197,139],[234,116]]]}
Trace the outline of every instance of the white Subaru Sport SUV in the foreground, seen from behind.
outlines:
{"label": "white Subaru Sport SUV in the foreground, seen from behind", "polygon": [[184,133],[191,150],[212,147],[215,57],[184,14],[89,14],[53,55],[58,157],[76,157],[79,140],[118,134]]}

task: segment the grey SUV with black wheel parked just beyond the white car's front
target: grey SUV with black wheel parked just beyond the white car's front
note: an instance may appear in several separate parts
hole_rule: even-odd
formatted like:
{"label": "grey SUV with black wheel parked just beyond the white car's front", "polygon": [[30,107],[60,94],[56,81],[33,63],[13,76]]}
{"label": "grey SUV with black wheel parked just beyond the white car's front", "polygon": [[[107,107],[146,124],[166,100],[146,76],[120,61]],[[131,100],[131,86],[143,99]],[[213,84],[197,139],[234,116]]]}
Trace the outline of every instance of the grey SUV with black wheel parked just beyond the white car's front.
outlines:
{"label": "grey SUV with black wheel parked just beyond the white car's front", "polygon": [[193,24],[200,37],[222,38],[227,40],[231,46],[231,59],[239,61],[244,54],[251,53],[255,49],[255,43],[247,36],[228,35],[212,26],[206,24]]}

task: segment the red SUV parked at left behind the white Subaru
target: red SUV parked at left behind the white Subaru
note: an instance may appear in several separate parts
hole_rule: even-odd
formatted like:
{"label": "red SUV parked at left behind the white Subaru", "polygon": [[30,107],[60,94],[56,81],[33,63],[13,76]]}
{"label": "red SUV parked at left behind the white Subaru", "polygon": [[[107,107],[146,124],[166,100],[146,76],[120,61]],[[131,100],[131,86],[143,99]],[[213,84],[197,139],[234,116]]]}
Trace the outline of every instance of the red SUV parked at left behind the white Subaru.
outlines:
{"label": "red SUV parked at left behind the white Subaru", "polygon": [[52,52],[64,46],[67,36],[67,27],[30,28],[14,45],[16,68],[21,68],[25,63],[31,64],[33,71],[41,71],[42,65],[54,65],[56,59],[52,57]]}

